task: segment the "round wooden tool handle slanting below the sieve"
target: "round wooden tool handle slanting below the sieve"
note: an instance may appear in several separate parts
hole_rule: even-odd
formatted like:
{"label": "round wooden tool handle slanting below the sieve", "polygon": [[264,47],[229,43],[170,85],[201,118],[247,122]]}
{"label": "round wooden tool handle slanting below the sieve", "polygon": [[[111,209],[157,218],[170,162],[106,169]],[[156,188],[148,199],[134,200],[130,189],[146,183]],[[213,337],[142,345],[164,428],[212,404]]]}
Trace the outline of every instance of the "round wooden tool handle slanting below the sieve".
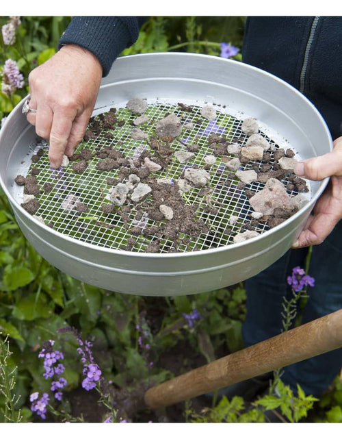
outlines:
{"label": "round wooden tool handle slanting below the sieve", "polygon": [[145,393],[145,403],[153,409],[166,407],[339,347],[342,310],[150,388]]}

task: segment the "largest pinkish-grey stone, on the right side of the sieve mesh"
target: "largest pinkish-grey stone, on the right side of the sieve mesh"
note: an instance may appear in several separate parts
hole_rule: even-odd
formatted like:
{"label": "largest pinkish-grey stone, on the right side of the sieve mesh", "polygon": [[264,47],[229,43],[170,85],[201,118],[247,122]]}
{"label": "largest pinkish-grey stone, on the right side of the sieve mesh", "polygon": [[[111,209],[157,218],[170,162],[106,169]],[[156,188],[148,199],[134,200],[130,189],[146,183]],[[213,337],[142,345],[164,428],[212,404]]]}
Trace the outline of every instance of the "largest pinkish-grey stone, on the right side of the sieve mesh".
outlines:
{"label": "largest pinkish-grey stone, on the right side of the sieve mesh", "polygon": [[249,202],[255,212],[262,212],[264,215],[272,215],[276,208],[293,208],[293,203],[284,185],[275,178],[269,179],[265,188],[253,195]]}

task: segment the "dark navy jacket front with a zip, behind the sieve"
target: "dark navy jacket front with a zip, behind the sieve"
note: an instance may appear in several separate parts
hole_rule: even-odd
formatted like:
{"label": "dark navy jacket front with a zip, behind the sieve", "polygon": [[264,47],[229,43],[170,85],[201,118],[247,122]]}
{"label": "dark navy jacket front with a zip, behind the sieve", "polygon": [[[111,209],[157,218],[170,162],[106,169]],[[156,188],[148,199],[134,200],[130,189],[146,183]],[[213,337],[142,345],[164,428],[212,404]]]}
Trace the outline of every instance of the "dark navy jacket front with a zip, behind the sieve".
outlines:
{"label": "dark navy jacket front with a zip, behind the sieve", "polygon": [[342,135],[342,17],[257,16],[246,20],[243,61],[300,90]]}

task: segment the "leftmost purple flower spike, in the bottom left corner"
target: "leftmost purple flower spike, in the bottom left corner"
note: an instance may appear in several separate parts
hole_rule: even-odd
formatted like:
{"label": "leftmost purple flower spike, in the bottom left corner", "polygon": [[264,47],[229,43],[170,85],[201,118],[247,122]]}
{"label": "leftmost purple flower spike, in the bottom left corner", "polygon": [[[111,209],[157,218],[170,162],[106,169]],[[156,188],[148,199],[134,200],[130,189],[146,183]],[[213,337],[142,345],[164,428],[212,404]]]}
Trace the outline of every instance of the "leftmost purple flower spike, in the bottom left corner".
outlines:
{"label": "leftmost purple flower spike, in the bottom left corner", "polygon": [[[67,381],[64,377],[58,377],[64,373],[64,364],[60,360],[64,360],[64,355],[62,352],[53,349],[53,340],[49,340],[43,343],[42,350],[38,354],[38,358],[44,358],[44,373],[43,377],[45,379],[55,377],[55,380],[51,382],[51,392],[55,392],[55,399],[62,401],[62,389],[66,386]],[[33,402],[31,405],[32,412],[36,412],[41,418],[45,419],[46,407],[49,401],[49,395],[43,393],[42,397],[38,399],[39,393],[34,392],[30,396],[30,401]]]}

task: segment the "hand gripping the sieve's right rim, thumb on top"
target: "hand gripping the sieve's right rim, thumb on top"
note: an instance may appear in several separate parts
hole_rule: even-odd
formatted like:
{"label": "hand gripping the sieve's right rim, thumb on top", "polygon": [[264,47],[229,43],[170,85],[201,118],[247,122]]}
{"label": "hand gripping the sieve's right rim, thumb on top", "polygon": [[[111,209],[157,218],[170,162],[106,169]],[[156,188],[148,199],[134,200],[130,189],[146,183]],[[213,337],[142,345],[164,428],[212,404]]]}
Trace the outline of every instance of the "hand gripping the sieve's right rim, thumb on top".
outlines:
{"label": "hand gripping the sieve's right rim, thumb on top", "polygon": [[319,181],[330,177],[326,190],[317,200],[308,221],[292,248],[321,244],[342,218],[342,137],[334,140],[330,153],[295,165],[301,177]]}

